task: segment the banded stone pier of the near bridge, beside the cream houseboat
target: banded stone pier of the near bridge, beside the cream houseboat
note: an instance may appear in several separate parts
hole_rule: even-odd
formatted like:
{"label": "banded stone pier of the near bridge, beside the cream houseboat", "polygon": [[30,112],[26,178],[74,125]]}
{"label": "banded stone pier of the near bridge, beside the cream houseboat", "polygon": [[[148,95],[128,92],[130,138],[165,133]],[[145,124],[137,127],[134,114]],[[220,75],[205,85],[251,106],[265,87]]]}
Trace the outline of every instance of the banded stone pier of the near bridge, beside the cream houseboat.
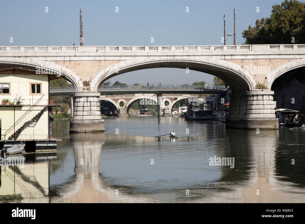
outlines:
{"label": "banded stone pier of the near bridge, beside the cream houseboat", "polygon": [[73,120],[70,120],[70,132],[106,131],[99,106],[100,93],[74,93]]}

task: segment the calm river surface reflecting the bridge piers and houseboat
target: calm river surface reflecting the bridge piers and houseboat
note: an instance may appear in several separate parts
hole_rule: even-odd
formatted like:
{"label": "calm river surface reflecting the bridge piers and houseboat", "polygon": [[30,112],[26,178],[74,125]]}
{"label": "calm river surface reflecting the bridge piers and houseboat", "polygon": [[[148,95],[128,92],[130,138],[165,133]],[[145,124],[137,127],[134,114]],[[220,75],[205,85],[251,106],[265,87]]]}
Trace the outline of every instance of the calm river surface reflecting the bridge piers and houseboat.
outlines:
{"label": "calm river surface reflecting the bridge piers and houseboat", "polygon": [[[305,201],[299,128],[257,134],[153,116],[105,119],[105,133],[69,134],[69,121],[51,124],[64,129],[57,153],[24,154],[23,166],[0,166],[0,202]],[[178,139],[154,137],[170,130]],[[234,168],[210,166],[215,156],[234,158]]]}

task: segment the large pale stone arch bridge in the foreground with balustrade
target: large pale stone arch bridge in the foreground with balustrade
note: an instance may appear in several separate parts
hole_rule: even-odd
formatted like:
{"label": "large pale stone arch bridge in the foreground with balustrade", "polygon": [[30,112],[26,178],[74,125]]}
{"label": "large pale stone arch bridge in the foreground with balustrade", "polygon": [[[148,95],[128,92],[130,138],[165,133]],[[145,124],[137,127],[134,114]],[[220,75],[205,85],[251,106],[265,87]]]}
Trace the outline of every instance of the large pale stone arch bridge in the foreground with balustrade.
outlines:
{"label": "large pale stone arch bridge in the foreground with balustrade", "polygon": [[[0,47],[0,68],[36,69],[74,84],[73,131],[104,130],[100,84],[127,72],[164,67],[209,73],[228,83],[232,93],[227,127],[278,129],[271,85],[304,65],[305,44]],[[257,84],[265,89],[257,89]]]}

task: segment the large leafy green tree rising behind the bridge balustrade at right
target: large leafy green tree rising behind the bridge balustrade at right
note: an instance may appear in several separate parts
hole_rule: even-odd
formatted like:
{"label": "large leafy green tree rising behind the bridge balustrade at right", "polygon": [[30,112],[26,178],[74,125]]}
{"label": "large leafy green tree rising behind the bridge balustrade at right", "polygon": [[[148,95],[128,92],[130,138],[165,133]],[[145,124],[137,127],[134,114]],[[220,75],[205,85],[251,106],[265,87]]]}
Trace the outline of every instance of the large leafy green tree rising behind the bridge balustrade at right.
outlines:
{"label": "large leafy green tree rising behind the bridge balustrade at right", "polygon": [[272,6],[268,18],[242,32],[245,44],[305,43],[305,3],[285,0]]}

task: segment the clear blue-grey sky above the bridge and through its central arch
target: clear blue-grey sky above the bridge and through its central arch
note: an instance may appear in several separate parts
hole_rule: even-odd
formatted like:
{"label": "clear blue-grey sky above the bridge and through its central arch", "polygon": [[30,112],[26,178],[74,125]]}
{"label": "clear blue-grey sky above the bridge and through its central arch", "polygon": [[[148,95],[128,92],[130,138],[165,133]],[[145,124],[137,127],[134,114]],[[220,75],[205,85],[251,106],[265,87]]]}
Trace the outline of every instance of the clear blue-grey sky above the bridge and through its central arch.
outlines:
{"label": "clear blue-grey sky above the bridge and through its central arch", "polygon": [[[253,26],[256,19],[269,17],[272,5],[282,1],[2,0],[0,45],[80,45],[79,9],[84,23],[84,45],[222,45],[223,15],[226,34],[233,34],[234,7],[236,44],[242,44],[245,41],[242,31]],[[115,12],[116,7],[119,12]],[[10,43],[10,37],[13,37],[13,43]],[[154,43],[150,42],[151,37]],[[229,44],[228,36],[226,44]],[[127,84],[192,84],[195,81],[212,83],[213,76],[196,71],[186,74],[185,69],[160,68],[110,79],[112,83],[116,80]]]}

